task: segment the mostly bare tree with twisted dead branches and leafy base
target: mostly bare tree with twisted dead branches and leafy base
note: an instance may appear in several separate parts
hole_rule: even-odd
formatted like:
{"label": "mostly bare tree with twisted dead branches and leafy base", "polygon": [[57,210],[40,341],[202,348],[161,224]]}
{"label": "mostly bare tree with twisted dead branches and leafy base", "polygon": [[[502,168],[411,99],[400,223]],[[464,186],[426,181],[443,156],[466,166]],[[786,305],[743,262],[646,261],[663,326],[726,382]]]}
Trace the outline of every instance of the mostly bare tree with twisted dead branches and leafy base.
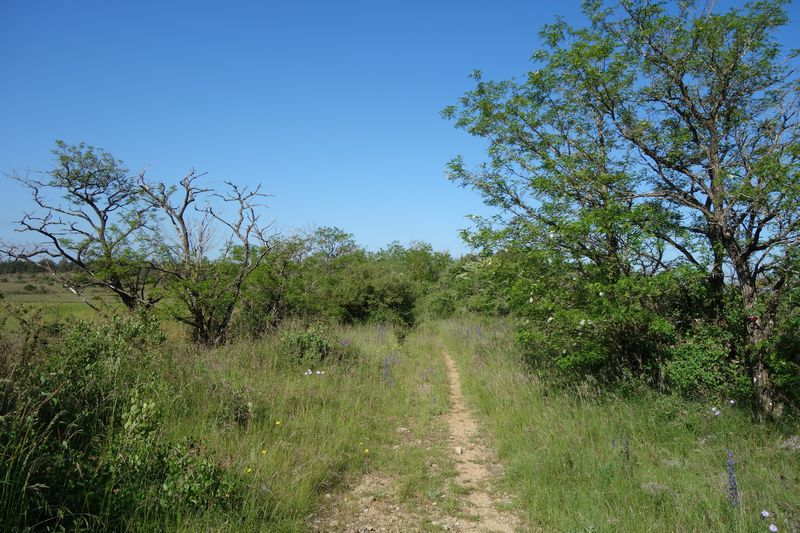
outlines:
{"label": "mostly bare tree with twisted dead branches and leafy base", "polygon": [[[260,186],[248,190],[226,182],[227,191],[217,193],[197,185],[201,176],[192,171],[174,186],[141,176],[138,187],[149,208],[168,223],[168,233],[150,237],[150,266],[164,276],[178,303],[171,314],[191,328],[195,341],[216,345],[226,340],[242,287],[269,254],[270,244],[256,213],[258,200],[265,196]],[[223,205],[198,205],[203,198]],[[226,207],[232,208],[232,215],[222,212]],[[212,242],[215,229],[227,233],[218,250]]]}

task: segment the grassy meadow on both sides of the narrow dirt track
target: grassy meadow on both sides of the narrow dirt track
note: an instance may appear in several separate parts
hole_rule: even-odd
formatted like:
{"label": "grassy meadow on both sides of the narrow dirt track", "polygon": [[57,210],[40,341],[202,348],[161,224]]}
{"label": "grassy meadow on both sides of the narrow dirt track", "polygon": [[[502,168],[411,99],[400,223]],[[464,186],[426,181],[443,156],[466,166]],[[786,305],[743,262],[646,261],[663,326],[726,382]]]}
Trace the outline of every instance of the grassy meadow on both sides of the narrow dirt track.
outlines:
{"label": "grassy meadow on both sides of the narrow dirt track", "polygon": [[[44,285],[36,276],[2,283],[6,302],[41,307],[48,319],[92,316],[57,288],[26,290],[28,284]],[[556,386],[525,365],[510,320],[466,316],[410,331],[380,324],[313,327],[331,344],[328,357],[307,359],[287,349],[292,339],[317,331],[299,322],[216,348],[189,344],[177,325],[166,324],[164,342],[142,359],[141,368],[129,371],[146,375],[146,386],[126,396],[128,404],[142,402],[157,413],[159,422],[147,434],[156,440],[119,448],[109,437],[100,449],[112,465],[127,460],[123,455],[160,464],[164,459],[148,457],[146,443],[171,443],[167,468],[189,465],[193,473],[137,489],[167,504],[129,506],[130,515],[115,527],[305,531],[336,494],[366,474],[381,473],[399,487],[404,503],[420,509],[420,529],[439,531],[426,519],[426,506],[467,511],[453,483],[441,417],[448,410],[444,350],[457,360],[467,400],[498,451],[505,469],[500,488],[536,530],[744,533],[766,531],[771,523],[780,531],[800,528],[800,452],[789,440],[797,433],[792,421],[756,424],[735,404],[692,402],[635,387],[609,392],[591,382]],[[6,324],[4,333],[13,338],[17,328]],[[112,389],[124,387],[125,375],[115,374]],[[123,436],[136,420],[126,416],[117,430]],[[132,435],[136,441],[140,434]],[[0,451],[6,458],[24,455],[21,471],[30,474],[42,468],[37,455],[50,453],[37,446],[31,441],[24,454],[21,448]],[[6,476],[6,485],[13,486],[12,474]],[[169,483],[178,483],[173,492],[188,503],[171,505],[160,496]],[[109,486],[112,493],[126,490]],[[202,495],[207,492],[210,497]],[[0,491],[0,504],[16,512],[19,497]],[[97,521],[70,522],[70,528],[99,527],[102,512],[114,508],[103,505],[109,511],[100,511]],[[761,517],[765,510],[767,519]],[[31,530],[58,530],[59,518],[53,520],[56,527]]]}

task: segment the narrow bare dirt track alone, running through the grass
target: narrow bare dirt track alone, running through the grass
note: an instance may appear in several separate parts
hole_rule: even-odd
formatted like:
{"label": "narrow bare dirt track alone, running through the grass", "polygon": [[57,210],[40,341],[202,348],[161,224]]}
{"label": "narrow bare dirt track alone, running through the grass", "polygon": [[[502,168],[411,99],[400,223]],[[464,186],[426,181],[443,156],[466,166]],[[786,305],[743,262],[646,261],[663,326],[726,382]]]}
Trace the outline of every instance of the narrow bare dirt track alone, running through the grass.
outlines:
{"label": "narrow bare dirt track alone, running through the grass", "polygon": [[456,480],[470,490],[466,497],[469,512],[477,519],[463,531],[513,533],[519,527],[516,517],[498,510],[497,502],[491,496],[489,483],[496,477],[498,469],[493,462],[493,454],[481,442],[478,423],[464,403],[461,376],[455,362],[447,352],[444,353],[444,360],[450,381],[451,408],[446,417],[450,427],[450,443],[456,454]]}

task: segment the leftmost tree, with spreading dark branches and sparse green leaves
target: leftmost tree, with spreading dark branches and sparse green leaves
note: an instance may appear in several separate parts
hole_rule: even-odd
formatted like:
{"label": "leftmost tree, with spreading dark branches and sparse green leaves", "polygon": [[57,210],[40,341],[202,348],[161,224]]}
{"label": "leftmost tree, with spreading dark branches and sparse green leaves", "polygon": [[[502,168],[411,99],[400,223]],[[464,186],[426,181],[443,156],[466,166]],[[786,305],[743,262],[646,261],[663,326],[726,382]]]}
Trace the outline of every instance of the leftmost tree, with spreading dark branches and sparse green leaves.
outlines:
{"label": "leftmost tree, with spreading dark branches and sparse green leaves", "polygon": [[135,177],[111,154],[84,143],[56,141],[53,153],[58,164],[46,178],[12,176],[30,190],[39,208],[18,221],[17,231],[39,235],[44,242],[2,251],[16,260],[66,262],[73,272],[55,268],[52,261],[38,264],[76,294],[102,287],[128,309],[153,306],[158,297],[150,289],[156,280],[136,241],[151,207],[142,203]]}

